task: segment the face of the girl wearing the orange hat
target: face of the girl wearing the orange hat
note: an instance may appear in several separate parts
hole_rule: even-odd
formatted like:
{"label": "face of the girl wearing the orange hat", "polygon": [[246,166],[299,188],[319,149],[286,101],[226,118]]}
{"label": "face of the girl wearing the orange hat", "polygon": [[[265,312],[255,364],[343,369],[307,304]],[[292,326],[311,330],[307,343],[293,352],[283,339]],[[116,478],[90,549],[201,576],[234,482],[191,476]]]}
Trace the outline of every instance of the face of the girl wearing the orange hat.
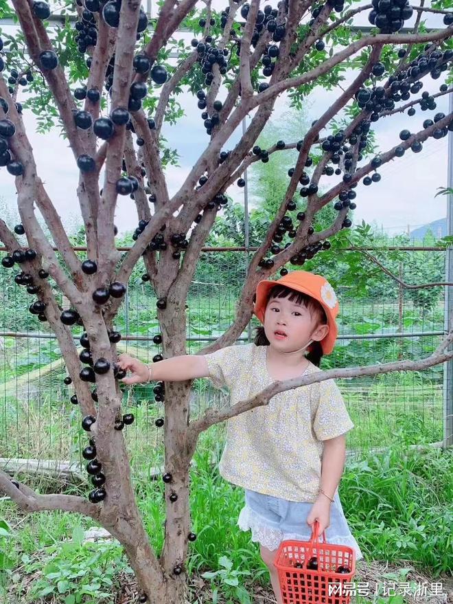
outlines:
{"label": "face of the girl wearing the orange hat", "polygon": [[[276,332],[285,335],[279,336]],[[310,340],[321,340],[329,326],[318,324],[306,306],[289,298],[271,298],[264,313],[264,333],[271,346],[280,350],[298,350]]]}

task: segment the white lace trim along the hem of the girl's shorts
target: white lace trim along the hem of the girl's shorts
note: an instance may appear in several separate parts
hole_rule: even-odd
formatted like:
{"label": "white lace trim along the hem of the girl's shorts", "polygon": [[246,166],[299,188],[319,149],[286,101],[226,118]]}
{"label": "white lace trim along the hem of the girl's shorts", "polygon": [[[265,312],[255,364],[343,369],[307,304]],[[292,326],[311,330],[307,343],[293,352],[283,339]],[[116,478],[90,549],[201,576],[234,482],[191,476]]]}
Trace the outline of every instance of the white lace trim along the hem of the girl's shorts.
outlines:
{"label": "white lace trim along the hem of the girl's shorts", "polygon": [[[286,541],[288,539],[296,539],[297,541],[310,540],[310,537],[305,539],[297,533],[281,533],[281,530],[278,528],[271,528],[248,506],[244,506],[240,511],[237,525],[241,530],[251,530],[252,541],[258,541],[259,544],[268,548],[270,551],[277,550],[281,541]],[[335,535],[332,537],[329,535],[329,541],[331,543],[349,546],[350,548],[353,548],[353,550],[356,550],[356,561],[363,558],[360,547],[353,535],[348,535],[346,537],[336,537]]]}

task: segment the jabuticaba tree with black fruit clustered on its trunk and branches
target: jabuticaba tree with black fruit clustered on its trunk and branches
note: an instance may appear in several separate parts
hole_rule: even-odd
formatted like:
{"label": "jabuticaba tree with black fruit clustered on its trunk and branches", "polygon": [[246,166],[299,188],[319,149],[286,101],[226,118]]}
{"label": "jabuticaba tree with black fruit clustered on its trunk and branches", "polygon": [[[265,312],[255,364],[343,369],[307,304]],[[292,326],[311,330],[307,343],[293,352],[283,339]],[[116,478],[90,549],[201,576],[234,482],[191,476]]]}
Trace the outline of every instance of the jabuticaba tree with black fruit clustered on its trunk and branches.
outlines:
{"label": "jabuticaba tree with black fruit clustered on its trunk and branches", "polygon": [[[291,386],[276,382],[233,410],[209,410],[199,418],[189,417],[191,381],[156,383],[156,400],[165,405],[165,418],[157,425],[165,431],[166,505],[164,546],[156,557],[130,480],[123,430],[134,417],[121,410],[124,374],[116,363],[121,334],[113,328],[132,269],[143,256],[143,280],[156,295],[160,330],[154,343],[162,346],[162,354],[154,362],[185,355],[187,291],[209,230],[228,203],[229,188],[244,186],[244,170],[253,161],[271,161],[273,153],[294,149],[286,195],[251,260],[235,319],[200,353],[233,344],[251,320],[257,282],[277,271],[283,275],[288,265],[301,266],[320,251],[329,254],[329,237],[351,226],[359,180],[377,183],[380,166],[419,153],[428,137],[442,138],[453,130],[452,114],[421,120],[423,111],[436,109],[438,96],[452,90],[453,12],[448,6],[447,0],[435,9],[408,0],[373,0],[349,10],[344,0],[278,5],[229,0],[218,13],[209,0],[164,0],[150,23],[138,0],[76,0],[66,5],[66,15],[75,20],[58,26],[46,21],[50,8],[43,0],[7,4],[19,19],[19,30],[14,36],[3,32],[0,45],[0,166],[14,177],[21,223],[8,226],[0,220],[0,238],[8,250],[2,265],[30,293],[30,313],[48,322],[58,338],[65,383],[73,385],[71,403],[79,405],[86,431],[82,455],[92,487],[86,497],[40,495],[0,472],[0,489],[24,511],[75,511],[104,526],[124,547],[137,576],[139,601],[184,601],[185,561],[196,539],[189,514],[189,465],[200,432],[267,404],[288,388],[329,377],[421,370],[452,358],[453,319],[443,343],[425,359],[329,370],[293,380]],[[361,12],[373,26],[363,35],[348,25]],[[414,13],[412,31],[400,32]],[[443,15],[437,17],[443,26],[420,33],[432,13]],[[186,45],[176,41],[181,27],[194,32]],[[173,63],[171,49],[178,51]],[[346,65],[353,79],[340,87]],[[422,91],[430,78],[439,80],[433,95]],[[336,87],[338,97],[303,139],[259,148],[257,138],[282,93],[301,104],[318,87]],[[184,90],[191,95],[181,96]],[[170,197],[165,165],[175,153],[165,147],[161,129],[165,120],[181,117],[185,102],[200,110],[206,146]],[[41,128],[61,128],[72,150],[86,236],[82,262],[36,169],[23,111],[34,111]],[[395,113],[413,116],[408,119],[412,130],[404,129],[395,135],[395,146],[374,155],[373,124]],[[230,139],[246,115],[251,122],[234,145]],[[130,196],[137,208],[134,243],[124,256],[115,247],[118,195]],[[304,205],[294,215],[297,195]],[[316,231],[316,213],[326,204],[334,205],[334,221]],[[41,230],[35,207],[61,260]],[[69,300],[68,308],[58,305],[58,291]],[[82,331],[80,354],[74,330]]]}

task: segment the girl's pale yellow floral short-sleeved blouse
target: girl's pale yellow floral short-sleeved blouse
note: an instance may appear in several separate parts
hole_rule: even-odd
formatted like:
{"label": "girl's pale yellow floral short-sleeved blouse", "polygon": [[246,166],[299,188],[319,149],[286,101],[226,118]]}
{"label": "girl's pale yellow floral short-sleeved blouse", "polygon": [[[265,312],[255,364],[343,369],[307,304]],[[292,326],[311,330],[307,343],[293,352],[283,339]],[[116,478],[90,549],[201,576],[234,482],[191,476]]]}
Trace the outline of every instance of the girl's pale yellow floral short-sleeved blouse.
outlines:
{"label": "girl's pale yellow floral short-sleeved blouse", "polygon": [[[209,379],[216,388],[229,390],[231,405],[275,381],[266,366],[267,348],[239,344],[205,355]],[[317,371],[310,363],[303,375]],[[323,440],[353,427],[332,379],[279,392],[268,405],[227,420],[220,475],[244,489],[314,502],[321,484]]]}

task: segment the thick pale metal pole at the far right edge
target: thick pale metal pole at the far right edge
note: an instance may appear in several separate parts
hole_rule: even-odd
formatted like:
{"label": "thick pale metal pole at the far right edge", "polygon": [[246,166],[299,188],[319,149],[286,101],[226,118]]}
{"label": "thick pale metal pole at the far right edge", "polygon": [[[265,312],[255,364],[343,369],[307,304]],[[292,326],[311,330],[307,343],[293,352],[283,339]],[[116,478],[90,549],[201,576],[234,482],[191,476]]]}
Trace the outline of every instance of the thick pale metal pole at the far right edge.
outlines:
{"label": "thick pale metal pole at the far right edge", "polygon": [[[453,111],[452,94],[449,112]],[[453,132],[448,133],[448,188],[453,189]],[[453,194],[447,201],[447,235],[453,235]],[[445,252],[445,282],[453,281],[453,245]],[[445,332],[453,327],[453,287],[445,287]],[[450,344],[450,350],[453,345]],[[443,449],[453,445],[453,359],[443,363]]]}

